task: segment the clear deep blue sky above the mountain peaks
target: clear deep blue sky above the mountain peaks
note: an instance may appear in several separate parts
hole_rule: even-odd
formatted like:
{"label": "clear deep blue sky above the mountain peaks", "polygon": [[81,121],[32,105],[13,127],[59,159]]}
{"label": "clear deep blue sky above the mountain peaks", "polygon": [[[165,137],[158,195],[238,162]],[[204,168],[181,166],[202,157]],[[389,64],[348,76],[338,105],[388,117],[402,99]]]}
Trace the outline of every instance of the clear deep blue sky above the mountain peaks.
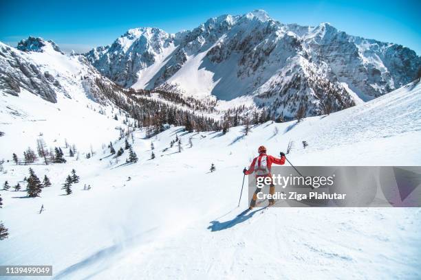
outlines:
{"label": "clear deep blue sky above the mountain peaks", "polygon": [[12,1],[0,0],[0,40],[16,45],[29,35],[62,49],[108,45],[133,27],[190,30],[221,14],[263,9],[282,23],[318,25],[409,47],[421,54],[421,1]]}

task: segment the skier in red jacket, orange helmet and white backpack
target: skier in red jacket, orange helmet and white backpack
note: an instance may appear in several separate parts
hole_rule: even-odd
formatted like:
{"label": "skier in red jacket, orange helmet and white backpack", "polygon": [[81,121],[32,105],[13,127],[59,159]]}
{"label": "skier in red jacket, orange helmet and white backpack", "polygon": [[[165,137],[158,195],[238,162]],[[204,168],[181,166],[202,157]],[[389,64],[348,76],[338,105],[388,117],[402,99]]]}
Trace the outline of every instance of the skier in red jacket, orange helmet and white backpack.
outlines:
{"label": "skier in red jacket, orange helmet and white backpack", "polygon": [[[266,154],[266,148],[265,146],[261,145],[259,149],[257,150],[259,152],[259,156],[257,156],[255,159],[253,159],[250,168],[246,170],[244,168],[243,173],[246,175],[252,174],[255,172],[256,178],[259,177],[269,177],[272,180],[272,175],[270,174],[270,168],[272,167],[272,163],[283,165],[285,163],[285,154],[281,152],[281,159],[277,159],[274,156],[268,156]],[[250,207],[248,207],[249,210],[253,209],[256,205],[257,200],[257,194],[261,191],[260,188],[256,188],[255,194],[253,194],[253,198],[250,201]],[[274,185],[273,183],[270,183],[269,187],[269,194],[274,194]],[[271,198],[269,200],[269,206],[274,204],[274,200]]]}

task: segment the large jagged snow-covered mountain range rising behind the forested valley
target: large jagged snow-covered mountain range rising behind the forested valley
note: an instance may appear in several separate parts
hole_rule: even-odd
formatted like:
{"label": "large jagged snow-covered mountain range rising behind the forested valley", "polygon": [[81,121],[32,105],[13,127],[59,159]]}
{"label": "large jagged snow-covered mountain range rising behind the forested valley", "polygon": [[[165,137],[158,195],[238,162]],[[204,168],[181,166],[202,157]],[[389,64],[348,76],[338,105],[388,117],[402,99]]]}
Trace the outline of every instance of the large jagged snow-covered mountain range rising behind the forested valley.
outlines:
{"label": "large jagged snow-covered mountain range rising behind the forested valley", "polygon": [[407,47],[351,36],[329,23],[283,24],[266,12],[208,19],[191,31],[129,30],[87,59],[118,84],[177,86],[221,100],[248,96],[271,113],[293,117],[341,110],[414,80],[421,58]]}

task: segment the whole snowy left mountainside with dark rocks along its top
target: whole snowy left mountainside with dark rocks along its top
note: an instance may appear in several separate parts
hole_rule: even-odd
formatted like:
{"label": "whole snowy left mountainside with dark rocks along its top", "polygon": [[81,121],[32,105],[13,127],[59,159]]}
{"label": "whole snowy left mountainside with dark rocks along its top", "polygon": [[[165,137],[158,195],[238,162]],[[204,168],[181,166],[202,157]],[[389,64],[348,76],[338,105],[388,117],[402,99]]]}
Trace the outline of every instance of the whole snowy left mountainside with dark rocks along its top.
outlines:
{"label": "whole snowy left mountainside with dark rocks along its top", "polygon": [[20,155],[39,137],[48,147],[67,139],[80,152],[98,148],[127,128],[113,118],[120,115],[115,97],[125,95],[84,56],[65,55],[41,38],[18,49],[0,43],[0,158]]}

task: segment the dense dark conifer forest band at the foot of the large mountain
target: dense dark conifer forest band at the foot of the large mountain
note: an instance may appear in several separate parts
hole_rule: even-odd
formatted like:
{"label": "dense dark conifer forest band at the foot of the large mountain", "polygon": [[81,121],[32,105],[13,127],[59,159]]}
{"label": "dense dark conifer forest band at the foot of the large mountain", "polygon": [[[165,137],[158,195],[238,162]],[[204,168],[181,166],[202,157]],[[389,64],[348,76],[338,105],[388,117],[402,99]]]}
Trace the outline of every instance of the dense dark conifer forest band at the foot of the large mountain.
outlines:
{"label": "dense dark conifer forest band at the foot of the large mountain", "polygon": [[151,92],[147,90],[125,90],[100,79],[97,79],[96,82],[102,92],[109,97],[109,100],[136,120],[135,127],[147,129],[148,137],[162,132],[167,124],[185,126],[188,132],[193,132],[193,130],[227,132],[232,126],[262,124],[270,119],[283,121],[283,119],[274,119],[274,116],[270,115],[270,111],[266,109],[257,110],[247,106],[230,108],[224,112],[220,119],[215,119],[204,114],[199,115],[195,109],[213,112],[212,107],[215,107],[216,101],[206,104],[194,99],[185,99],[177,93],[156,91],[164,100],[191,108],[191,110],[186,110],[175,106],[175,104],[151,99]]}

